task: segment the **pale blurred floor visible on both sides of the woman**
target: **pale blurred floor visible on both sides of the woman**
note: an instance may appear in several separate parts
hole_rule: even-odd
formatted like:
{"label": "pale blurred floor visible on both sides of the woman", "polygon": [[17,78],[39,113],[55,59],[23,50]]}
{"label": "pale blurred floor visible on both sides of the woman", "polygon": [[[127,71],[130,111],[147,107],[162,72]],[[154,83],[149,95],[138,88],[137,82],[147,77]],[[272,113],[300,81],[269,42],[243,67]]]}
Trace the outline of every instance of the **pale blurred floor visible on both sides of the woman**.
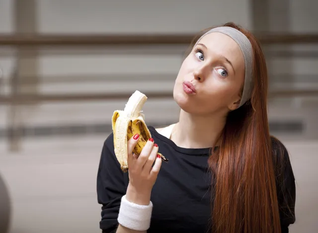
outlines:
{"label": "pale blurred floor visible on both sides of the woman", "polygon": [[[9,233],[100,233],[95,183],[104,139],[103,135],[43,139],[51,148],[39,139],[28,139],[23,153],[1,151],[0,172],[13,208]],[[318,141],[282,141],[297,179],[297,220],[290,232],[313,233],[318,228],[314,185]]]}

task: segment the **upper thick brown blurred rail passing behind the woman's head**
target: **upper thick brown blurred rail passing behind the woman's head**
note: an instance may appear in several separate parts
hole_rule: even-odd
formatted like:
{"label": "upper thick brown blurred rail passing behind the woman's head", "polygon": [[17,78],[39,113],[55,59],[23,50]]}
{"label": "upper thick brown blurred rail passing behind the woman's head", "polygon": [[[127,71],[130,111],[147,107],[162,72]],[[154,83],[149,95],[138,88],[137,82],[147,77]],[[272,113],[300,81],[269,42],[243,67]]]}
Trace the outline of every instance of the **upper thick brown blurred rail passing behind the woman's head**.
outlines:
{"label": "upper thick brown blurred rail passing behind the woman's head", "polygon": [[[256,34],[262,44],[318,43],[318,34]],[[0,46],[72,46],[72,45],[138,45],[189,44],[195,34],[121,34],[121,35],[59,35],[59,34],[0,34]]]}

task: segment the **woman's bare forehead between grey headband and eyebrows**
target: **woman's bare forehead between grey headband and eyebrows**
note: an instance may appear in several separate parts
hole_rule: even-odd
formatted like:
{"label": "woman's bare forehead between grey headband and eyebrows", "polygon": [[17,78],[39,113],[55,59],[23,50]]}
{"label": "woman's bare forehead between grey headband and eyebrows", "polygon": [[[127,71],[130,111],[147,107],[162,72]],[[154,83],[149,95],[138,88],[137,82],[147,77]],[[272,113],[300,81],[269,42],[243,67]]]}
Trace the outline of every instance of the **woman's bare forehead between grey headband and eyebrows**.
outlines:
{"label": "woman's bare forehead between grey headband and eyebrows", "polygon": [[[205,35],[198,43],[204,44],[208,51],[223,55],[235,63],[244,62],[239,45],[230,36],[221,32],[212,32]],[[240,64],[239,64],[240,65]]]}

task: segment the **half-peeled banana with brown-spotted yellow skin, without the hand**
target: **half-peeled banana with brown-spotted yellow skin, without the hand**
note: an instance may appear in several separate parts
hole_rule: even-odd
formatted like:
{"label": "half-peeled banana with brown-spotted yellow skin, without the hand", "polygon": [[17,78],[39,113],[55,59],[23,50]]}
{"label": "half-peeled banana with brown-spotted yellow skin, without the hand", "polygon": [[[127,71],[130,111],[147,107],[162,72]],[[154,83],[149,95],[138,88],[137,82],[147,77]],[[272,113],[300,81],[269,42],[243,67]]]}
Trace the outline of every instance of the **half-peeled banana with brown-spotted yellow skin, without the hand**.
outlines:
{"label": "half-peeled banana with brown-spotted yellow skin, without the hand", "polygon": [[[141,111],[147,99],[145,94],[136,91],[129,98],[124,111],[116,110],[112,116],[115,155],[123,172],[128,171],[127,141],[136,133],[140,135],[139,141],[133,149],[133,153],[140,155],[146,142],[152,137],[145,123],[145,115]],[[163,161],[168,161],[162,154],[158,154]]]}

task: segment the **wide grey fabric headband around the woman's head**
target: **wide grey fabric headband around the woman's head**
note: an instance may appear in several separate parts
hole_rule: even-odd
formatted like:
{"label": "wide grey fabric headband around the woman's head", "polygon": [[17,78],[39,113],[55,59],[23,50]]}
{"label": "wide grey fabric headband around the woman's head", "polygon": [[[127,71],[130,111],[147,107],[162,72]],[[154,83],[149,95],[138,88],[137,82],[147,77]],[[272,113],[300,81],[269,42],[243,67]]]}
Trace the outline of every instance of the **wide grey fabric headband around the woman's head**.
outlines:
{"label": "wide grey fabric headband around the woman's head", "polygon": [[253,90],[253,78],[252,78],[252,65],[253,65],[253,49],[248,38],[239,30],[233,27],[216,27],[204,33],[195,45],[202,39],[203,36],[211,33],[211,32],[221,32],[230,36],[237,44],[239,45],[240,50],[242,51],[245,63],[245,77],[244,77],[244,86],[242,97],[239,103],[239,107],[246,103],[251,97],[251,92]]}

